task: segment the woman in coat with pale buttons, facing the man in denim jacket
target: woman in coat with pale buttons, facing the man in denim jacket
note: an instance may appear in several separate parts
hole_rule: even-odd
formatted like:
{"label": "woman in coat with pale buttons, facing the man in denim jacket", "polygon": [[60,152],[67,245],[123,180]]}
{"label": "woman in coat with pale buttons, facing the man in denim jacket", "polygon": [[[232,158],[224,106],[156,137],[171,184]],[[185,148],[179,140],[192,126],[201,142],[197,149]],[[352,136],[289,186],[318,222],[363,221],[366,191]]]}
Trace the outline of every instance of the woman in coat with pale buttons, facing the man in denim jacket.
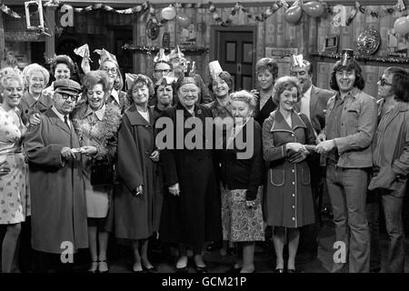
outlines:
{"label": "woman in coat with pale buttons, facing the man in denim jacket", "polygon": [[314,205],[308,151],[315,135],[306,115],[294,112],[301,98],[298,81],[284,76],[274,85],[274,100],[279,107],[264,121],[264,160],[268,162],[264,196],[264,215],[268,226],[274,226],[275,270],[284,272],[284,234],[288,233],[288,272],[295,271],[295,255],[300,238],[299,227],[314,223]]}

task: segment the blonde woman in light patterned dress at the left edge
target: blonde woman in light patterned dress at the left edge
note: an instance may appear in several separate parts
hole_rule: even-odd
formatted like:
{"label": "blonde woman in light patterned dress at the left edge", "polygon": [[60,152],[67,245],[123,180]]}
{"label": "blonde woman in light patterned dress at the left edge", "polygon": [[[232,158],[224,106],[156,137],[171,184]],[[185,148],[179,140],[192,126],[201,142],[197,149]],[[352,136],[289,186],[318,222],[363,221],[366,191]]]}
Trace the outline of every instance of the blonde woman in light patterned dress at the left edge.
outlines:
{"label": "blonde woman in light patterned dress at the left edge", "polygon": [[[2,237],[2,272],[11,272],[21,223],[30,216],[30,197],[26,184],[27,166],[22,139],[25,135],[18,105],[23,96],[23,80],[19,75],[0,77],[0,227]],[[3,232],[3,231],[2,231]]]}

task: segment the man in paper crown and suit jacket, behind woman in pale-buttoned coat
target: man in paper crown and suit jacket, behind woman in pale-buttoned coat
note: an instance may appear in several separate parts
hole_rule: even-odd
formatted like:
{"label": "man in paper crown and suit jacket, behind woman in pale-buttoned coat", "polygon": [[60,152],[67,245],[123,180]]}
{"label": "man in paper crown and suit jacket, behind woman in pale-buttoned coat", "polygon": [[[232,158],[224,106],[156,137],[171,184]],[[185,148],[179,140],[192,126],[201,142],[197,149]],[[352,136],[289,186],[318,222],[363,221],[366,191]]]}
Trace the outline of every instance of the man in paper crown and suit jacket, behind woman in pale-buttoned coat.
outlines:
{"label": "man in paper crown and suit jacket, behind woman in pale-buttoned coat", "polygon": [[[313,125],[315,135],[318,135],[325,125],[326,104],[334,92],[325,90],[313,85],[313,65],[304,59],[304,55],[293,55],[291,57],[290,75],[298,78],[302,89],[302,97],[296,104],[295,109],[308,117]],[[319,157],[319,156],[318,156]],[[314,163],[311,163],[311,186],[313,189],[315,218],[316,221],[321,220],[321,207],[319,201],[326,200],[328,205],[324,206],[325,214],[331,216],[329,198],[323,199],[324,193],[320,189],[324,189],[322,181],[324,177],[324,168],[320,166],[319,158]],[[327,194],[325,195],[325,198]],[[321,199],[320,199],[321,198]],[[324,202],[324,201],[323,201]]]}

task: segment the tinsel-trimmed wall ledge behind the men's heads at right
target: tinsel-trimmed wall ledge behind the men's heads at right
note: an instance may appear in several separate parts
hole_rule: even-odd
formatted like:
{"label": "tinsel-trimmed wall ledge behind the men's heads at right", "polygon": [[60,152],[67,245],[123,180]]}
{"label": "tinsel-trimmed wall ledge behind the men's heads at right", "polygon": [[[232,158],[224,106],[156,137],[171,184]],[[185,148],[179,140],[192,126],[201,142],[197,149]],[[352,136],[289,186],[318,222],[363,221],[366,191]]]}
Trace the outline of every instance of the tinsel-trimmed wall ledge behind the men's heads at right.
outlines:
{"label": "tinsel-trimmed wall ledge behind the men's heads at right", "polygon": [[[341,58],[338,53],[314,53],[310,54],[316,61],[335,63]],[[364,65],[404,65],[409,66],[409,57],[400,56],[376,56],[376,55],[354,55],[355,60]]]}

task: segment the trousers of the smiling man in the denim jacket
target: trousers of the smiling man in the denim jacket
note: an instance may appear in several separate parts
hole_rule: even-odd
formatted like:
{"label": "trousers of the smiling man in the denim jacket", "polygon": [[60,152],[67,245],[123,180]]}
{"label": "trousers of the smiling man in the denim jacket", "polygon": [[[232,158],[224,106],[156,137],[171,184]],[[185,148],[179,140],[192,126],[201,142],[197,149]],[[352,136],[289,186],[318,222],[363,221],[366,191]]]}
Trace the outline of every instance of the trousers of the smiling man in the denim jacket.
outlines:
{"label": "trousers of the smiling man in the denim jacket", "polygon": [[346,262],[335,263],[332,272],[369,272],[370,236],[365,200],[368,172],[361,168],[330,165],[326,183],[334,213],[335,241],[344,243]]}

